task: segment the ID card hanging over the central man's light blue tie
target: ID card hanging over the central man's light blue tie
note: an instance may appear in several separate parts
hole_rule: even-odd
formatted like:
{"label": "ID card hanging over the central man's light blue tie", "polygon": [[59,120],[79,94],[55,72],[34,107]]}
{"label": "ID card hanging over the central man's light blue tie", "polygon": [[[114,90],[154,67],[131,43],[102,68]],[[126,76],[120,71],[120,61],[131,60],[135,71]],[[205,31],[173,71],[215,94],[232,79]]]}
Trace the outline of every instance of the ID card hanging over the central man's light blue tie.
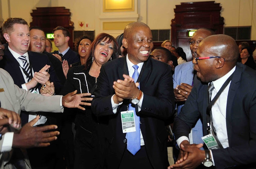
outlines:
{"label": "ID card hanging over the central man's light blue tie", "polygon": [[121,120],[123,133],[136,131],[133,110],[121,112]]}

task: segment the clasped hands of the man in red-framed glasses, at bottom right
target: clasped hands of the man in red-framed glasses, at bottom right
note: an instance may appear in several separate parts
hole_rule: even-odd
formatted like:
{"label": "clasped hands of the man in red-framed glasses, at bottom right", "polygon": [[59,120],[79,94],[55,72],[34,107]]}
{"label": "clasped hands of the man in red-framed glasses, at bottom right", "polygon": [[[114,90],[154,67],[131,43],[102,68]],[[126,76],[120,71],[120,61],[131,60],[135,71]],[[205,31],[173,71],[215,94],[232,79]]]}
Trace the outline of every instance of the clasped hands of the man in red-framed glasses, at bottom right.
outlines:
{"label": "clasped hands of the man in red-framed glasses, at bottom right", "polygon": [[169,166],[168,169],[192,169],[198,167],[205,159],[205,152],[200,150],[201,147],[203,147],[203,144],[189,144],[187,140],[184,140],[180,144],[180,153],[176,163]]}

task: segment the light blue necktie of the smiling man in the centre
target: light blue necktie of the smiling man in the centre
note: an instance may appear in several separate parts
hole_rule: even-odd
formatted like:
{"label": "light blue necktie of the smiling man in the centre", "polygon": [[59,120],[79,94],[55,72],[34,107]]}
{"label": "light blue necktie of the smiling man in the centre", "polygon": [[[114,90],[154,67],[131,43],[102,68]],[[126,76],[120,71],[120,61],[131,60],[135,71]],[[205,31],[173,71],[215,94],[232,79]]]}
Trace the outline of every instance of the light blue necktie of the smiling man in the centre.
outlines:
{"label": "light blue necktie of the smiling man in the centre", "polygon": [[[134,73],[132,74],[132,78],[134,79],[134,82],[136,83],[139,77],[138,73],[138,65],[132,66],[134,69]],[[138,87],[140,89],[140,86]],[[133,105],[135,106],[135,105]],[[129,132],[126,133],[127,138],[127,150],[130,151],[133,155],[135,155],[140,150],[140,117],[137,116],[135,107],[133,107],[131,104],[129,104],[129,110],[134,111],[134,120],[135,120],[135,132]]]}

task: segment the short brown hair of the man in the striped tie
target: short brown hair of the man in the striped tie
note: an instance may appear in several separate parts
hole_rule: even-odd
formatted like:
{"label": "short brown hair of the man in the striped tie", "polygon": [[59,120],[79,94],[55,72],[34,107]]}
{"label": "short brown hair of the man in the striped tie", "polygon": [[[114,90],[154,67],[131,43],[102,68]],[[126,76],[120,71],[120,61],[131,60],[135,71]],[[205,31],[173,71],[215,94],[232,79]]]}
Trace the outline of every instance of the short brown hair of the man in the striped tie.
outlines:
{"label": "short brown hair of the man in the striped tie", "polygon": [[3,24],[2,24],[3,34],[6,33],[11,35],[11,33],[14,32],[14,29],[13,29],[14,24],[28,25],[28,23],[22,18],[8,18],[5,21],[3,21]]}

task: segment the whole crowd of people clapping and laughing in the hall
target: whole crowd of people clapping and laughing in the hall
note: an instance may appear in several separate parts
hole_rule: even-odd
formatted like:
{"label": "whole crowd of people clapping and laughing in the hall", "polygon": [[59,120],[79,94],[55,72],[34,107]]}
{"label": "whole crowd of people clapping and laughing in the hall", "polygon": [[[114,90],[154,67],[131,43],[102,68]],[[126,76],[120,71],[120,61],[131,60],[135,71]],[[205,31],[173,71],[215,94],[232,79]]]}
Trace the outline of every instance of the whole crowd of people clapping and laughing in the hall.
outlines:
{"label": "whole crowd of people clapping and laughing in the hall", "polygon": [[53,34],[54,52],[40,27],[2,24],[0,169],[254,168],[247,42],[200,28],[187,61],[169,40],[152,51],[142,22],[82,36],[76,52],[67,29]]}

